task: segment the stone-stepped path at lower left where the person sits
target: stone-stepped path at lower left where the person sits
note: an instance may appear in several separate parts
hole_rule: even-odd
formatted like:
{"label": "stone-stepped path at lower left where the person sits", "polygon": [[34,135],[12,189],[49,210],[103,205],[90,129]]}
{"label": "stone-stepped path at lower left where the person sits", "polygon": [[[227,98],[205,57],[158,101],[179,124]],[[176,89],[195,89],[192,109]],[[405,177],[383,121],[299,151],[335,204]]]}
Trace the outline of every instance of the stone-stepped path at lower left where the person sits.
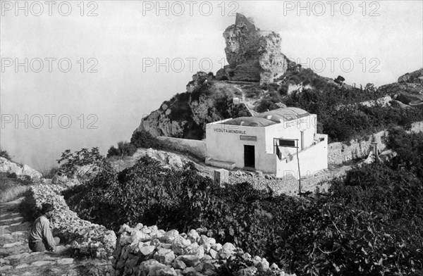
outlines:
{"label": "stone-stepped path at lower left where the person sits", "polygon": [[59,245],[56,252],[32,252],[27,245],[27,229],[18,206],[23,198],[0,204],[0,275],[1,276],[93,276],[106,275],[106,263],[73,258],[69,245]]}

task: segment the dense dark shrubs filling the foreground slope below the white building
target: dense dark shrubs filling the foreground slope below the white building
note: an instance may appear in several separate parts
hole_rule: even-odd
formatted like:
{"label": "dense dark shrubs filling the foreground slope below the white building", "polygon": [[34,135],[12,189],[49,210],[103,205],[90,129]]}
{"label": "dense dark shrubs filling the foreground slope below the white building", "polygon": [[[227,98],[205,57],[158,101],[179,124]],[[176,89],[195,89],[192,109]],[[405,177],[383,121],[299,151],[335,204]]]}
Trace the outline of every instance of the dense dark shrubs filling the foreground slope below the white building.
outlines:
{"label": "dense dark shrubs filling the foreground slope below the white building", "polygon": [[[102,163],[65,199],[82,218],[114,230],[125,222],[202,228],[297,275],[422,275],[422,138],[392,129],[386,139],[396,158],[350,170],[331,182],[329,196],[296,199],[249,183],[217,187],[192,163],[170,170],[143,157],[119,173]],[[243,265],[229,262],[221,275]]]}

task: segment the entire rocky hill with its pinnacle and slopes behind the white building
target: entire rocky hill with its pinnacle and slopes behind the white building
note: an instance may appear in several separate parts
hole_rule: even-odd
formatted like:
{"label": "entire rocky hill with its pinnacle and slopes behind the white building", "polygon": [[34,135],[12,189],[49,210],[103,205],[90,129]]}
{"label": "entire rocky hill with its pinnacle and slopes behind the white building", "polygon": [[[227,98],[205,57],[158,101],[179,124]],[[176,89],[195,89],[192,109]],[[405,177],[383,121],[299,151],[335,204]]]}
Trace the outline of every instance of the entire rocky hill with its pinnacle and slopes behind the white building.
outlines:
{"label": "entire rocky hill with its pinnacle and slopes behind the white building", "polygon": [[[417,106],[423,100],[422,69],[379,89],[373,84],[358,88],[346,84],[342,76],[321,77],[288,61],[281,53],[281,37],[275,32],[259,30],[244,15],[237,14],[235,24],[223,32],[223,37],[229,64],[216,75],[204,72],[193,75],[185,92],[164,101],[160,108],[142,118],[134,133],[147,130],[156,137],[204,139],[207,123],[284,106],[317,114],[321,118],[319,122],[326,126],[324,131],[330,131],[334,123],[329,120],[332,116],[329,110],[339,111],[342,106],[376,102],[381,98],[396,100],[392,106],[389,100],[384,105],[387,108]],[[331,136],[338,140],[337,137]]]}

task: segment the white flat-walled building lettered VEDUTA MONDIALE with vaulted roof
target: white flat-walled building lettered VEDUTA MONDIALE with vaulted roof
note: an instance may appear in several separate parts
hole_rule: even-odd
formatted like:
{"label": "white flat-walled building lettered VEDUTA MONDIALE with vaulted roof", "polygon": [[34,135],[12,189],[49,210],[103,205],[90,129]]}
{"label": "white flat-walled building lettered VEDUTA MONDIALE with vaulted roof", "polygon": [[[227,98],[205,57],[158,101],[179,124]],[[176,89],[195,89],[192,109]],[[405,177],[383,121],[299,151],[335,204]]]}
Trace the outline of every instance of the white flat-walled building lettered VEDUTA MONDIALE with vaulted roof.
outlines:
{"label": "white flat-walled building lettered VEDUTA MONDIALE with vaulted roof", "polygon": [[328,167],[328,137],[317,134],[317,115],[300,108],[209,123],[206,142],[205,163],[228,170],[243,168],[299,178]]}

